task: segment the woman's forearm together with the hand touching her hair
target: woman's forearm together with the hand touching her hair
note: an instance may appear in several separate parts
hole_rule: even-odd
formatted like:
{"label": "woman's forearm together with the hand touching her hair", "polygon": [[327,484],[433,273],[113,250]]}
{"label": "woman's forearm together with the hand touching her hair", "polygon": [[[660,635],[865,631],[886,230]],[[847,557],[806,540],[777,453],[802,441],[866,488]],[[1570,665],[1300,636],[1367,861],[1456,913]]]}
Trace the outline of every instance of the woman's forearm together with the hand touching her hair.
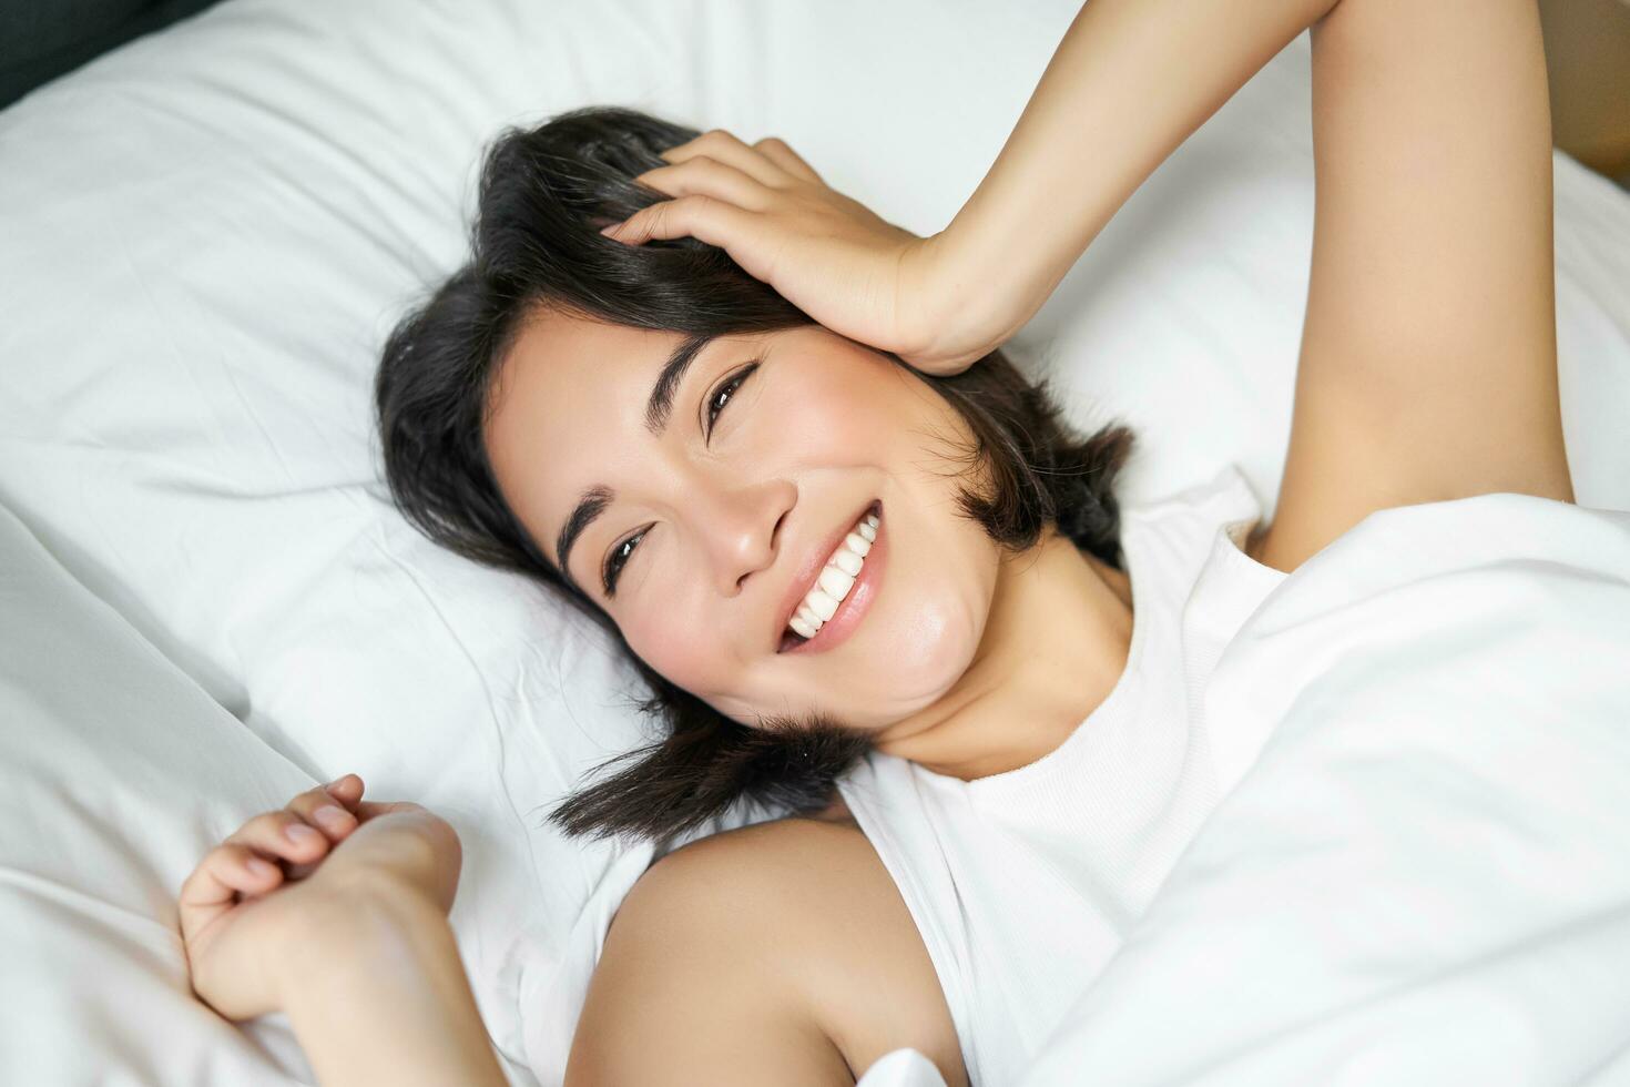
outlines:
{"label": "woman's forearm together with the hand touching her hair", "polygon": [[611,236],[717,244],[826,328],[957,373],[1029,321],[1144,178],[1335,2],[1090,0],[978,189],[931,238],[833,192],[781,140],[722,130],[641,174],[675,199]]}

